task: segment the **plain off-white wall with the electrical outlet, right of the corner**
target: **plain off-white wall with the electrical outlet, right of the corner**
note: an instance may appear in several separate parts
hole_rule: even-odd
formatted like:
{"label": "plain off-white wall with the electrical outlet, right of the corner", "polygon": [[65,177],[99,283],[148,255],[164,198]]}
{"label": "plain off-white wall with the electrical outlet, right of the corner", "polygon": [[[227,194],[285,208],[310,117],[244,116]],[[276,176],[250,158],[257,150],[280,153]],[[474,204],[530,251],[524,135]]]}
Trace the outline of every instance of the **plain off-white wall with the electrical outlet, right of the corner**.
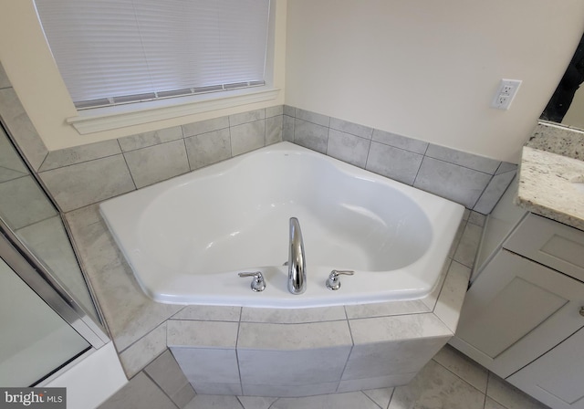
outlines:
{"label": "plain off-white wall with the electrical outlet, right of the corner", "polygon": [[286,103],[516,162],[583,30],[581,0],[291,0]]}

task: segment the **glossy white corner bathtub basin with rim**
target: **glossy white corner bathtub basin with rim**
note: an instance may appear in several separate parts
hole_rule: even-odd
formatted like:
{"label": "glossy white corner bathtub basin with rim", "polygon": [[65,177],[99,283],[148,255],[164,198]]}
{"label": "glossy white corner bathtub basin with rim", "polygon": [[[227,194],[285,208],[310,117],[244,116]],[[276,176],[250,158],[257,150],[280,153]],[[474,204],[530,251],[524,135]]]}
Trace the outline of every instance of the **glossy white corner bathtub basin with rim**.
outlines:
{"label": "glossy white corner bathtub basin with rim", "polygon": [[[99,205],[156,301],[308,308],[421,299],[437,284],[464,207],[289,142]],[[304,237],[306,292],[287,290],[288,220]],[[354,270],[329,290],[332,269]],[[254,292],[240,272],[261,271]]]}

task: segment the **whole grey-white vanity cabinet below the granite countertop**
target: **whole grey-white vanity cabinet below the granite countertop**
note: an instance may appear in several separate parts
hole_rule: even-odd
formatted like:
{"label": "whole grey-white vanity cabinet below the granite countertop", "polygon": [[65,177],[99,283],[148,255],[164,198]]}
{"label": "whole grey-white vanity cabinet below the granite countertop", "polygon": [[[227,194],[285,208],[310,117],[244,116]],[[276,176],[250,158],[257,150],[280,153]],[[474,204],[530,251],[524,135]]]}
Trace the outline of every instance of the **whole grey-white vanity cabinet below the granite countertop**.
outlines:
{"label": "whole grey-white vanity cabinet below the granite countertop", "polygon": [[450,343],[552,408],[584,409],[584,231],[517,210],[514,187],[489,215]]}

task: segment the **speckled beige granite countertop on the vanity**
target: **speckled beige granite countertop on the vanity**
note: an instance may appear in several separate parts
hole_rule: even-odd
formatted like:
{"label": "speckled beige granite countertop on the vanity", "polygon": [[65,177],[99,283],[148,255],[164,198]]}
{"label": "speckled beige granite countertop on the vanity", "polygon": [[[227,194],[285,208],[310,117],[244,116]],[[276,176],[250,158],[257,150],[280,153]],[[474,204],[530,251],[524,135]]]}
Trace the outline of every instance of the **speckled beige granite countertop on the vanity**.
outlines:
{"label": "speckled beige granite countertop on the vanity", "polygon": [[584,132],[539,123],[523,148],[516,204],[584,230]]}

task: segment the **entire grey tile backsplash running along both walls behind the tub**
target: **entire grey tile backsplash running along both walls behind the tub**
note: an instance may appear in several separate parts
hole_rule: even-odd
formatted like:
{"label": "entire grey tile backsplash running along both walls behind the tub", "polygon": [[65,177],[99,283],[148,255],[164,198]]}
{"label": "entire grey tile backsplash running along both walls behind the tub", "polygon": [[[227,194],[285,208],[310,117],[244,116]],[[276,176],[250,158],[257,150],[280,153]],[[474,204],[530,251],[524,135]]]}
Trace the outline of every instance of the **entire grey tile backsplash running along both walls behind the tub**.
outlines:
{"label": "entire grey tile backsplash running along both walls behind the tub", "polygon": [[[3,74],[3,73],[0,73]],[[501,163],[290,106],[48,152],[0,75],[0,116],[63,212],[288,141],[489,214],[516,174]]]}

